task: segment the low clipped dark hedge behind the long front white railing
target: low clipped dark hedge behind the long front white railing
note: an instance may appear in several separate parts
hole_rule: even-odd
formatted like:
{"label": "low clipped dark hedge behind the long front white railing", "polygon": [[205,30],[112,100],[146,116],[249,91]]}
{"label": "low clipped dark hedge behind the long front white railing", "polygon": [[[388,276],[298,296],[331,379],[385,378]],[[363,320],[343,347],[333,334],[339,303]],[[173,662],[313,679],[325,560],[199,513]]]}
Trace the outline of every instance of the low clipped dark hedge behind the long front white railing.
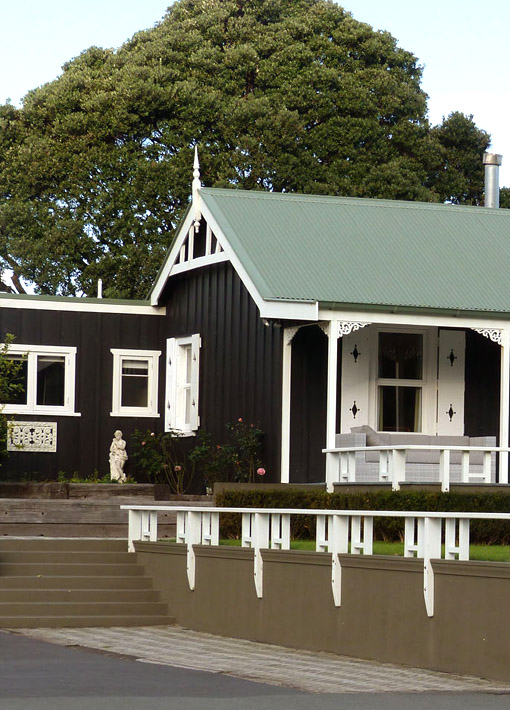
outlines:
{"label": "low clipped dark hedge behind the long front white railing", "polygon": [[[324,508],[329,510],[416,510],[438,512],[507,513],[510,493],[430,493],[428,491],[381,491],[377,493],[326,493],[324,490],[278,488],[274,490],[226,490],[216,495],[216,505],[232,508]],[[222,516],[220,535],[225,538],[240,534],[239,516]],[[315,536],[314,519],[292,516],[292,537],[311,539]],[[395,542],[403,539],[401,518],[374,521],[378,540]],[[510,523],[500,520],[472,520],[470,539],[473,544],[510,544]]]}

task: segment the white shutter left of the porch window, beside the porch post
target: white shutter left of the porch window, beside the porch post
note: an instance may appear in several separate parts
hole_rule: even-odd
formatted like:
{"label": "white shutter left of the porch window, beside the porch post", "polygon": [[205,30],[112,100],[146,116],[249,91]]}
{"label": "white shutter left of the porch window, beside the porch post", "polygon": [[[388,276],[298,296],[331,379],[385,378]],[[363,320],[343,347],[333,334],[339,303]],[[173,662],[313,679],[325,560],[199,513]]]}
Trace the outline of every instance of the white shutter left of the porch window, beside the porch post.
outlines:
{"label": "white shutter left of the porch window, beside the porch post", "polygon": [[370,330],[362,328],[342,338],[342,399],[340,431],[369,423]]}

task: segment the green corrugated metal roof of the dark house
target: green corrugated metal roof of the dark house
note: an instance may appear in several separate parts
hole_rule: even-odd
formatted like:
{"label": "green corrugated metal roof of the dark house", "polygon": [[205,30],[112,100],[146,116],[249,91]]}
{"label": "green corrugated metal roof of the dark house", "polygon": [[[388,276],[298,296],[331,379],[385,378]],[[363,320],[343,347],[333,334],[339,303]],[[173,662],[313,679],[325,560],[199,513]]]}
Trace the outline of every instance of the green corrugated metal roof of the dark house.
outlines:
{"label": "green corrugated metal roof of the dark house", "polygon": [[510,312],[510,210],[203,188],[261,296]]}

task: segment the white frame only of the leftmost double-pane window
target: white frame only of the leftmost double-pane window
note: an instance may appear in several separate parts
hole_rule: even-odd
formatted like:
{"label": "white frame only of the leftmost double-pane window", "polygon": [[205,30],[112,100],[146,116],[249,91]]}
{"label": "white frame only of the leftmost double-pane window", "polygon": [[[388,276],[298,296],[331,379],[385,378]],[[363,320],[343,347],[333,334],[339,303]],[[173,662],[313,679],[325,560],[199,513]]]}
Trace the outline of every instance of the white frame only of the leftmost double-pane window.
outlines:
{"label": "white frame only of the leftmost double-pane window", "polygon": [[[26,404],[5,404],[4,414],[48,414],[51,416],[81,416],[75,412],[76,390],[76,351],[75,347],[56,345],[9,345],[7,357],[11,355],[24,356],[27,359],[27,401]],[[64,374],[64,404],[37,404],[37,358],[39,355],[56,355],[65,358]]]}

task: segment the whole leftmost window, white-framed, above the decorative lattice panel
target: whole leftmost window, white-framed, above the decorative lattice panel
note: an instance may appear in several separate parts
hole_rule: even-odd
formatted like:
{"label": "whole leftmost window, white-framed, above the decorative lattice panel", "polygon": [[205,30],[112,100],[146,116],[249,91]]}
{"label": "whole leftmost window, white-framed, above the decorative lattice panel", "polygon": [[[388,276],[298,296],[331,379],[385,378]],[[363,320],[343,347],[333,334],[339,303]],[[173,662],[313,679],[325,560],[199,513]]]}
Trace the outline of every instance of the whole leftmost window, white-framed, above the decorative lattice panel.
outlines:
{"label": "whole leftmost window, white-framed, above the decorative lattice panel", "polygon": [[6,414],[76,414],[76,348],[16,343],[8,357],[22,362],[22,391],[5,402]]}

